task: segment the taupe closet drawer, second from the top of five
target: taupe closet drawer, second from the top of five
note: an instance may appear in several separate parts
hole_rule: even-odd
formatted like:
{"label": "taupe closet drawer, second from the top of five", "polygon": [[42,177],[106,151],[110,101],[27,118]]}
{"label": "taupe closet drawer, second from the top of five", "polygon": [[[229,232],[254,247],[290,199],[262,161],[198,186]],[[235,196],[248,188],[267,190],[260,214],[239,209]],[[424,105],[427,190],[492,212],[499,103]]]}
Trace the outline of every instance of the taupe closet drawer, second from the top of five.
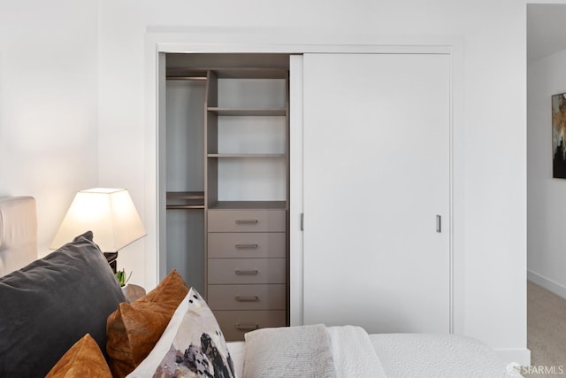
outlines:
{"label": "taupe closet drawer, second from the top of five", "polygon": [[209,258],[285,258],[286,236],[283,232],[209,233]]}

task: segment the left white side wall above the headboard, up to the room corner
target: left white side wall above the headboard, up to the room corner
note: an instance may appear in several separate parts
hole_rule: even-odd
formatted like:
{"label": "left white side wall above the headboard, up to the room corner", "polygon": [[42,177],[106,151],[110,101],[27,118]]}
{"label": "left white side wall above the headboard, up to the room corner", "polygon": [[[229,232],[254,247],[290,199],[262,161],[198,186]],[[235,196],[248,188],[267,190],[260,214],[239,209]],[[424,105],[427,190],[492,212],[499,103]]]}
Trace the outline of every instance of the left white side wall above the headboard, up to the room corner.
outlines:
{"label": "left white side wall above the headboard, up to the room corner", "polygon": [[96,186],[96,0],[0,4],[0,197],[37,199],[40,255]]}

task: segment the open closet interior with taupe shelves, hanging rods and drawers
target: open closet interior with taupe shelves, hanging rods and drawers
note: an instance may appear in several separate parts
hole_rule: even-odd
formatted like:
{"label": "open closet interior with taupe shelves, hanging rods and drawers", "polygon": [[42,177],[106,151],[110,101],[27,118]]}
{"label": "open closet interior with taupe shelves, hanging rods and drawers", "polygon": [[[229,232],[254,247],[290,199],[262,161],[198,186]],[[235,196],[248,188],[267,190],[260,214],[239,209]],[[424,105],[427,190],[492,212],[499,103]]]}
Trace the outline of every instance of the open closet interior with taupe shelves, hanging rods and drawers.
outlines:
{"label": "open closet interior with taupe shelves, hanging rods and drawers", "polygon": [[226,339],[289,324],[289,56],[167,54],[166,267]]}

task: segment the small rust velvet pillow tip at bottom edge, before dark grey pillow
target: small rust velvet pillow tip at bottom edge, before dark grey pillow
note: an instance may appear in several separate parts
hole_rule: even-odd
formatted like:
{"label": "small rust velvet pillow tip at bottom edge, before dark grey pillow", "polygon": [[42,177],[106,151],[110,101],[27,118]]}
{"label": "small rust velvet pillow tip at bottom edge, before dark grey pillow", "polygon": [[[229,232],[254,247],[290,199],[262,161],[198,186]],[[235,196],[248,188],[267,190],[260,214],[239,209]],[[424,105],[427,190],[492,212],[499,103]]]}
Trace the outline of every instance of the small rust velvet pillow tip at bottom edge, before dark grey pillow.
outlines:
{"label": "small rust velvet pillow tip at bottom edge, before dark grey pillow", "polygon": [[103,352],[95,339],[87,334],[66,351],[45,378],[111,378]]}

